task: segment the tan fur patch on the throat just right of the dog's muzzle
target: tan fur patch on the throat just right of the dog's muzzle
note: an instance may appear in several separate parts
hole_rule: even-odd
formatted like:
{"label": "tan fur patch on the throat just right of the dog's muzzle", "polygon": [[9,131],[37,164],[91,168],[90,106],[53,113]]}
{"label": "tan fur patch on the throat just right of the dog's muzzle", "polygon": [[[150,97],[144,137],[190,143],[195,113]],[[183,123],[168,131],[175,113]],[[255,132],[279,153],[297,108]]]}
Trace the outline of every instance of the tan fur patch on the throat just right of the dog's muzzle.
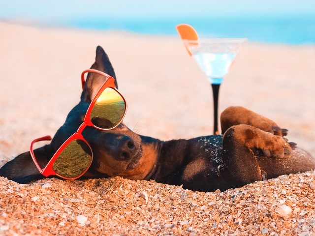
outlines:
{"label": "tan fur patch on the throat just right of the dog's muzzle", "polygon": [[119,176],[136,180],[144,179],[150,173],[154,165],[157,163],[158,159],[157,147],[155,147],[152,144],[142,145],[142,152],[143,154],[139,160],[139,165],[132,170],[126,170]]}

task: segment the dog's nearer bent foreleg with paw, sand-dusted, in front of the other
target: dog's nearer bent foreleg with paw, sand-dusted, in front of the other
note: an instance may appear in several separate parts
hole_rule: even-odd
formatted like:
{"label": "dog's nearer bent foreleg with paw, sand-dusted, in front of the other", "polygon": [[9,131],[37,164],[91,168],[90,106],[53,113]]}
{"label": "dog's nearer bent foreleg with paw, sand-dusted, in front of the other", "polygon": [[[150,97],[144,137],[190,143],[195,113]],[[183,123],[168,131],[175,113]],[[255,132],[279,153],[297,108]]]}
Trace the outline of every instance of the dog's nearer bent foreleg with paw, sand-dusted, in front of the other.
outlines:
{"label": "dog's nearer bent foreleg with paw, sand-dusted, in front of the other", "polygon": [[230,127],[224,133],[222,142],[221,174],[232,187],[266,178],[266,173],[259,166],[259,157],[254,153],[255,149],[280,159],[291,152],[290,144],[284,138],[244,124]]}

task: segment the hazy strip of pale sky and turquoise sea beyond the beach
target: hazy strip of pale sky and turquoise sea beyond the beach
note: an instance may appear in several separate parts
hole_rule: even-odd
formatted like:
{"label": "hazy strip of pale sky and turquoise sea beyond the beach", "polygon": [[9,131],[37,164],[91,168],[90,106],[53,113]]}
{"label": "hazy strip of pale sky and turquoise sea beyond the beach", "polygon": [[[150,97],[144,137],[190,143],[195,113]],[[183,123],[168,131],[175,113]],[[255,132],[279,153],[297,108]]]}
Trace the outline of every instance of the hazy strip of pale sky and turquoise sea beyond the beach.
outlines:
{"label": "hazy strip of pale sky and turquoise sea beyond the beach", "polygon": [[203,36],[315,43],[314,0],[9,0],[0,19],[39,26],[174,35],[187,23]]}

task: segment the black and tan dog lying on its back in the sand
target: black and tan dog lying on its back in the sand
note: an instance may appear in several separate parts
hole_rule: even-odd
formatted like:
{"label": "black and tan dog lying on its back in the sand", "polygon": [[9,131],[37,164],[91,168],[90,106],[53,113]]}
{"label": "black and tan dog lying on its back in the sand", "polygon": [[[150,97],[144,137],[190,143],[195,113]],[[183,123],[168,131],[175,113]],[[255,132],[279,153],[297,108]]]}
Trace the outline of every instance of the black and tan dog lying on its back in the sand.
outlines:
{"label": "black and tan dog lying on its back in the sand", "polygon": [[[91,68],[116,79],[111,62],[100,46],[96,48]],[[41,166],[76,132],[103,82],[102,77],[88,76],[80,102],[69,112],[51,143],[34,150]],[[115,83],[117,86],[117,80]],[[222,135],[164,142],[138,135],[123,122],[107,131],[87,127],[83,136],[93,150],[94,159],[81,178],[152,179],[209,192],[315,169],[315,159],[310,153],[284,138],[286,129],[243,107],[228,107],[223,111],[221,128]],[[0,169],[0,176],[18,183],[44,178],[29,151],[7,162]]]}

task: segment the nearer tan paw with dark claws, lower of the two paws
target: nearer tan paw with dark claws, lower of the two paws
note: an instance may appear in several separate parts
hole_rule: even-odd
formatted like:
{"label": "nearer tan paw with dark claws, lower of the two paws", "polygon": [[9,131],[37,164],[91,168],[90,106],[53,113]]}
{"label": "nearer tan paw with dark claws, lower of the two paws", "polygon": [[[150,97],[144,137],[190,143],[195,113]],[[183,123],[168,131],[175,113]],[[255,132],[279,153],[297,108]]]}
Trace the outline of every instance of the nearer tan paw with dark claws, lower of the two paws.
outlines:
{"label": "nearer tan paw with dark claws, lower of the two paws", "polygon": [[262,153],[267,157],[283,158],[290,155],[296,143],[288,143],[286,139],[280,136],[274,136],[272,140],[265,142],[265,147],[262,148]]}

